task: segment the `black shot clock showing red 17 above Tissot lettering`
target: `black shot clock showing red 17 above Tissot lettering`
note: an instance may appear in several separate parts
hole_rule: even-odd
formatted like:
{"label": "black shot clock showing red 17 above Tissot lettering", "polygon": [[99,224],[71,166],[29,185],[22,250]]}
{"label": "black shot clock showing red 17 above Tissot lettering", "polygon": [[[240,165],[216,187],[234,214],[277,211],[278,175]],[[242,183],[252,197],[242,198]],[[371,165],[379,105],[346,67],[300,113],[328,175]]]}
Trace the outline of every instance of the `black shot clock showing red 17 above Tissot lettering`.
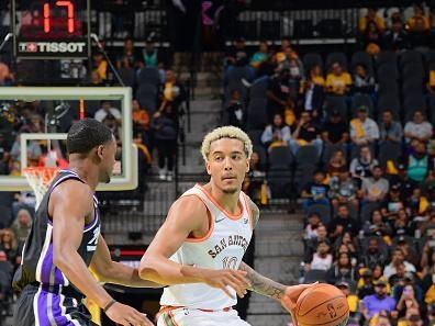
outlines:
{"label": "black shot clock showing red 17 above Tissot lettering", "polygon": [[19,58],[88,58],[89,0],[12,1]]}

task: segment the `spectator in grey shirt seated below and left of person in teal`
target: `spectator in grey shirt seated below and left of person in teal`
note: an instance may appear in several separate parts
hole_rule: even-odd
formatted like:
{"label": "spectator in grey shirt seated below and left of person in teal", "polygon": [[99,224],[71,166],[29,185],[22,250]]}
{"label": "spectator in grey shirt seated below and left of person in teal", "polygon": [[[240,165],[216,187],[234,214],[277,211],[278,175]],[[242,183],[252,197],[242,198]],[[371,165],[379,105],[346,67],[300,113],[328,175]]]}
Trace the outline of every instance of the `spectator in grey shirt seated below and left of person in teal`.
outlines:
{"label": "spectator in grey shirt seated below and left of person in teal", "polygon": [[364,202],[382,203],[386,199],[390,184],[382,176],[382,168],[375,166],[371,170],[371,177],[362,179],[361,198]]}

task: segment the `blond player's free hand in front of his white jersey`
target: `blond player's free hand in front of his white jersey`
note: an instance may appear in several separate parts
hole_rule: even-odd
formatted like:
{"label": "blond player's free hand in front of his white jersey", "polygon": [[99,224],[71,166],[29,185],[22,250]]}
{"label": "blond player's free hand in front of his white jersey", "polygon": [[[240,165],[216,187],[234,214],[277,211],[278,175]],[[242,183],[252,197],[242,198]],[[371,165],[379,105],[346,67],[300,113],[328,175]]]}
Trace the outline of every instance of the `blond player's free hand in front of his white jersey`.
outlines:
{"label": "blond player's free hand in front of his white jersey", "polygon": [[233,288],[239,297],[244,297],[247,292],[246,289],[250,286],[246,274],[246,271],[233,269],[210,270],[204,277],[204,280],[207,284],[221,289],[232,299],[235,297],[231,294],[227,286]]}

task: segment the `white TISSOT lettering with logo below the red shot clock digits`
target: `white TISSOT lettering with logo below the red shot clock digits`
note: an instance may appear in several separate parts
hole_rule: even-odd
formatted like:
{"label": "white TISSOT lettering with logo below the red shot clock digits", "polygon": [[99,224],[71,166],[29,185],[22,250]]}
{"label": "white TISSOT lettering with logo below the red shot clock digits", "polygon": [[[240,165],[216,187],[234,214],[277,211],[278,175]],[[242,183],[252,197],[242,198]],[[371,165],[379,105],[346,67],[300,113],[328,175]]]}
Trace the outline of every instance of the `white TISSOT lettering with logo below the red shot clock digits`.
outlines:
{"label": "white TISSOT lettering with logo below the red shot clock digits", "polygon": [[65,53],[80,54],[86,49],[86,42],[20,42],[21,53]]}

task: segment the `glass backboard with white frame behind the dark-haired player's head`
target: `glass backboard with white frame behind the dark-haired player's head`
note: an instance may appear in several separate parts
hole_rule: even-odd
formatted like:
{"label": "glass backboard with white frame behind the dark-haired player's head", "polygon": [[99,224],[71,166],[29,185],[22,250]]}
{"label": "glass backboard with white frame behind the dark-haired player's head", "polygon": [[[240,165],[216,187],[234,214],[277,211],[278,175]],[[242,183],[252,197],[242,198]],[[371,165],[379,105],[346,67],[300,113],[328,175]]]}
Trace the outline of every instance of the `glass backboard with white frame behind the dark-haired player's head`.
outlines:
{"label": "glass backboard with white frame behind the dark-haired player's head", "polygon": [[46,166],[49,159],[65,167],[67,132],[85,116],[107,124],[119,143],[112,181],[97,190],[135,189],[137,148],[132,142],[131,105],[131,89],[122,87],[0,88],[0,191],[31,190],[21,176],[25,167]]}

